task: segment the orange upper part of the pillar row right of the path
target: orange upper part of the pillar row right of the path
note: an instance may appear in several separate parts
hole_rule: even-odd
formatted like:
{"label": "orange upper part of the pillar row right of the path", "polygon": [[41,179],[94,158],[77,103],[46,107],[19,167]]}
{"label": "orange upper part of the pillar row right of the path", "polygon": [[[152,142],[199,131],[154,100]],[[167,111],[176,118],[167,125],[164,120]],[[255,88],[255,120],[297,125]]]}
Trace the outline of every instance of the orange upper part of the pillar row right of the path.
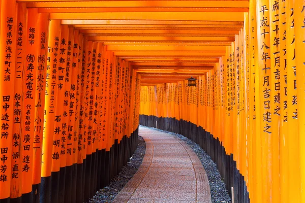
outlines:
{"label": "orange upper part of the pillar row right of the path", "polygon": [[305,202],[304,19],[303,1],[251,0],[235,42],[197,87],[141,87],[140,114],[218,139],[252,202]]}

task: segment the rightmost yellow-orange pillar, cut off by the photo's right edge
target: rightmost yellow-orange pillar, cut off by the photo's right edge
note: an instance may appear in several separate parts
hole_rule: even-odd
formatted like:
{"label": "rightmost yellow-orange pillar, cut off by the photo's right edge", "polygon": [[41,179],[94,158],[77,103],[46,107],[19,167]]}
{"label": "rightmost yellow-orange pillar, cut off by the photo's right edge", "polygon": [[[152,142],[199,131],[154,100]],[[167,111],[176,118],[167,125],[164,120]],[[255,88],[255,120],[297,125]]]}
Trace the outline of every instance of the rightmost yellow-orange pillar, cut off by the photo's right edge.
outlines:
{"label": "rightmost yellow-orange pillar, cut off by the photo's right edge", "polygon": [[[294,19],[295,19],[295,57],[297,74],[296,80],[298,81],[297,95],[300,98],[298,101],[298,112],[305,112],[304,98],[305,98],[305,83],[303,82],[303,76],[305,75],[305,61],[303,58],[303,53],[305,51],[305,2],[296,1],[294,6]],[[304,143],[305,137],[305,117],[301,113],[298,115],[298,136],[299,136],[299,149],[300,149],[300,182],[301,182],[301,199],[300,202],[305,202],[305,154]]]}

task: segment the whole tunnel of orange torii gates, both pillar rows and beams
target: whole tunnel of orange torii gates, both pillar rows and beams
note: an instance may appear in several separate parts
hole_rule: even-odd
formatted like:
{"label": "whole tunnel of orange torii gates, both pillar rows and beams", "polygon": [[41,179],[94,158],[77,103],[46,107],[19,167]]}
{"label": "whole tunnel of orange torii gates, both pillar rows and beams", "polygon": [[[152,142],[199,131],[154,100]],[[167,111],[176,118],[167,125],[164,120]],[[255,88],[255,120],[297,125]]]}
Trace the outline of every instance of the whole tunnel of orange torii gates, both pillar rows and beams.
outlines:
{"label": "whole tunnel of orange torii gates, both pillar rows and beams", "polygon": [[87,201],[139,124],[197,142],[235,202],[305,202],[304,1],[0,2],[1,203]]}

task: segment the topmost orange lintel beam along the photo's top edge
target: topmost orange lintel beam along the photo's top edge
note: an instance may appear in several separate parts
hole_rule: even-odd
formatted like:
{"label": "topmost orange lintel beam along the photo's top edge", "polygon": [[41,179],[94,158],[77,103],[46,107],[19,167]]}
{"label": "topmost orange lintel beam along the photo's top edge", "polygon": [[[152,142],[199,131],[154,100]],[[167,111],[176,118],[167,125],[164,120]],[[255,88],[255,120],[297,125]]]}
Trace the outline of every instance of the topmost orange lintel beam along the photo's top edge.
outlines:
{"label": "topmost orange lintel beam along the photo's top edge", "polygon": [[[28,2],[28,8],[249,8],[248,0],[239,1],[38,1],[17,0]],[[57,1],[58,2],[58,1]]]}

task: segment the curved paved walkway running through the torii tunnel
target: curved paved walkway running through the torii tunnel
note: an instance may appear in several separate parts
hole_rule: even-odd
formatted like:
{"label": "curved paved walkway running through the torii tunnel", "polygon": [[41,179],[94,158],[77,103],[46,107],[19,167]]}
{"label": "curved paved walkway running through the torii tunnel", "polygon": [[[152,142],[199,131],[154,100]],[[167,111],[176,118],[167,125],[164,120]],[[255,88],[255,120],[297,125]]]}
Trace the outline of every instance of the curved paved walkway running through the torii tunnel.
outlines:
{"label": "curved paved walkway running through the torii tunnel", "polygon": [[139,136],[146,143],[142,165],[113,202],[211,202],[206,173],[188,144],[144,127]]}

